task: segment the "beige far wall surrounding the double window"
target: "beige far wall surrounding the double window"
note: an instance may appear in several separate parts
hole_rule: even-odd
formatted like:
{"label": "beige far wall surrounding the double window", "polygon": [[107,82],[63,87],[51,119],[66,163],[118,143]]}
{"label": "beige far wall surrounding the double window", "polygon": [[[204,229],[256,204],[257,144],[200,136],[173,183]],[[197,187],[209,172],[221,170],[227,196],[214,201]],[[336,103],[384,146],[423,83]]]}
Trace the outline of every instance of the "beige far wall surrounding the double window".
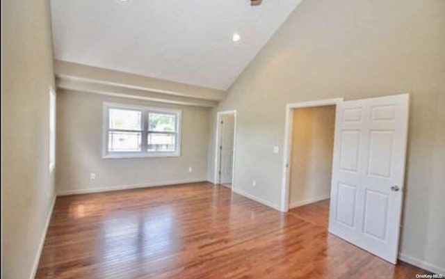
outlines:
{"label": "beige far wall surrounding the double window", "polygon": [[[103,102],[181,109],[181,157],[102,159]],[[206,180],[209,109],[67,90],[59,90],[57,105],[58,193]],[[97,174],[96,180],[90,173]]]}

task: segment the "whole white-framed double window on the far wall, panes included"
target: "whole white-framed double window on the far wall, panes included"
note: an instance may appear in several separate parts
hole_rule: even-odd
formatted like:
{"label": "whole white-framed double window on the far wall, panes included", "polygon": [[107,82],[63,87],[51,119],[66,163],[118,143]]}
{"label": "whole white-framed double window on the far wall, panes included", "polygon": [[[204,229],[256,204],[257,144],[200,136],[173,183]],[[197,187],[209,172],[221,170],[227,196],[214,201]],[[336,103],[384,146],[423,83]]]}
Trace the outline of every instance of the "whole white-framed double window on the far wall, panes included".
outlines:
{"label": "whole white-framed double window on the far wall, panes included", "polygon": [[104,103],[104,158],[180,156],[181,111]]}

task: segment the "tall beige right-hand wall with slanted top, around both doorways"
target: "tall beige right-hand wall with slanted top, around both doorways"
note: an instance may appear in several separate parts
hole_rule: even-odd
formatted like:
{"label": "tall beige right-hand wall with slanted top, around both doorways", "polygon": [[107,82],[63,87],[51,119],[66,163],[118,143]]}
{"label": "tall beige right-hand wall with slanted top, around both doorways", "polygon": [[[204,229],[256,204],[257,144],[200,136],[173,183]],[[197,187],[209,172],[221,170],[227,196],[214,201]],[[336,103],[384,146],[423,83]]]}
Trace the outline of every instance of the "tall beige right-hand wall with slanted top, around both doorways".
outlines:
{"label": "tall beige right-hand wall with slanted top, around both doorways", "polygon": [[209,150],[236,109],[234,187],[280,205],[286,103],[410,93],[401,253],[445,273],[444,49],[443,0],[303,1],[213,111]]}

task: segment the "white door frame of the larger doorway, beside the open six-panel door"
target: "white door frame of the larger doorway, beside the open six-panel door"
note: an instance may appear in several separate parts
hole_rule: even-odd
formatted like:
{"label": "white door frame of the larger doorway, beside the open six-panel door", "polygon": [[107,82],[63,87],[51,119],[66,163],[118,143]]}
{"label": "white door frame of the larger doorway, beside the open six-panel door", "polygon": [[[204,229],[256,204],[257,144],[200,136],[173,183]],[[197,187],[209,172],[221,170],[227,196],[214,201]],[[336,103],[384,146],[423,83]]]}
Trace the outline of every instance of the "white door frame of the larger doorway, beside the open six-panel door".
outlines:
{"label": "white door frame of the larger doorway, beside the open six-panel door", "polygon": [[[290,192],[290,174],[291,174],[291,150],[292,150],[292,128],[293,128],[293,110],[302,108],[311,108],[316,106],[338,106],[343,102],[343,98],[319,99],[309,102],[296,102],[286,104],[286,122],[284,126],[284,144],[283,144],[283,168],[282,168],[282,193],[281,193],[281,211],[289,211],[289,192]],[[336,109],[337,113],[337,109]],[[337,115],[336,115],[337,118]],[[332,155],[332,159],[333,155]]]}

